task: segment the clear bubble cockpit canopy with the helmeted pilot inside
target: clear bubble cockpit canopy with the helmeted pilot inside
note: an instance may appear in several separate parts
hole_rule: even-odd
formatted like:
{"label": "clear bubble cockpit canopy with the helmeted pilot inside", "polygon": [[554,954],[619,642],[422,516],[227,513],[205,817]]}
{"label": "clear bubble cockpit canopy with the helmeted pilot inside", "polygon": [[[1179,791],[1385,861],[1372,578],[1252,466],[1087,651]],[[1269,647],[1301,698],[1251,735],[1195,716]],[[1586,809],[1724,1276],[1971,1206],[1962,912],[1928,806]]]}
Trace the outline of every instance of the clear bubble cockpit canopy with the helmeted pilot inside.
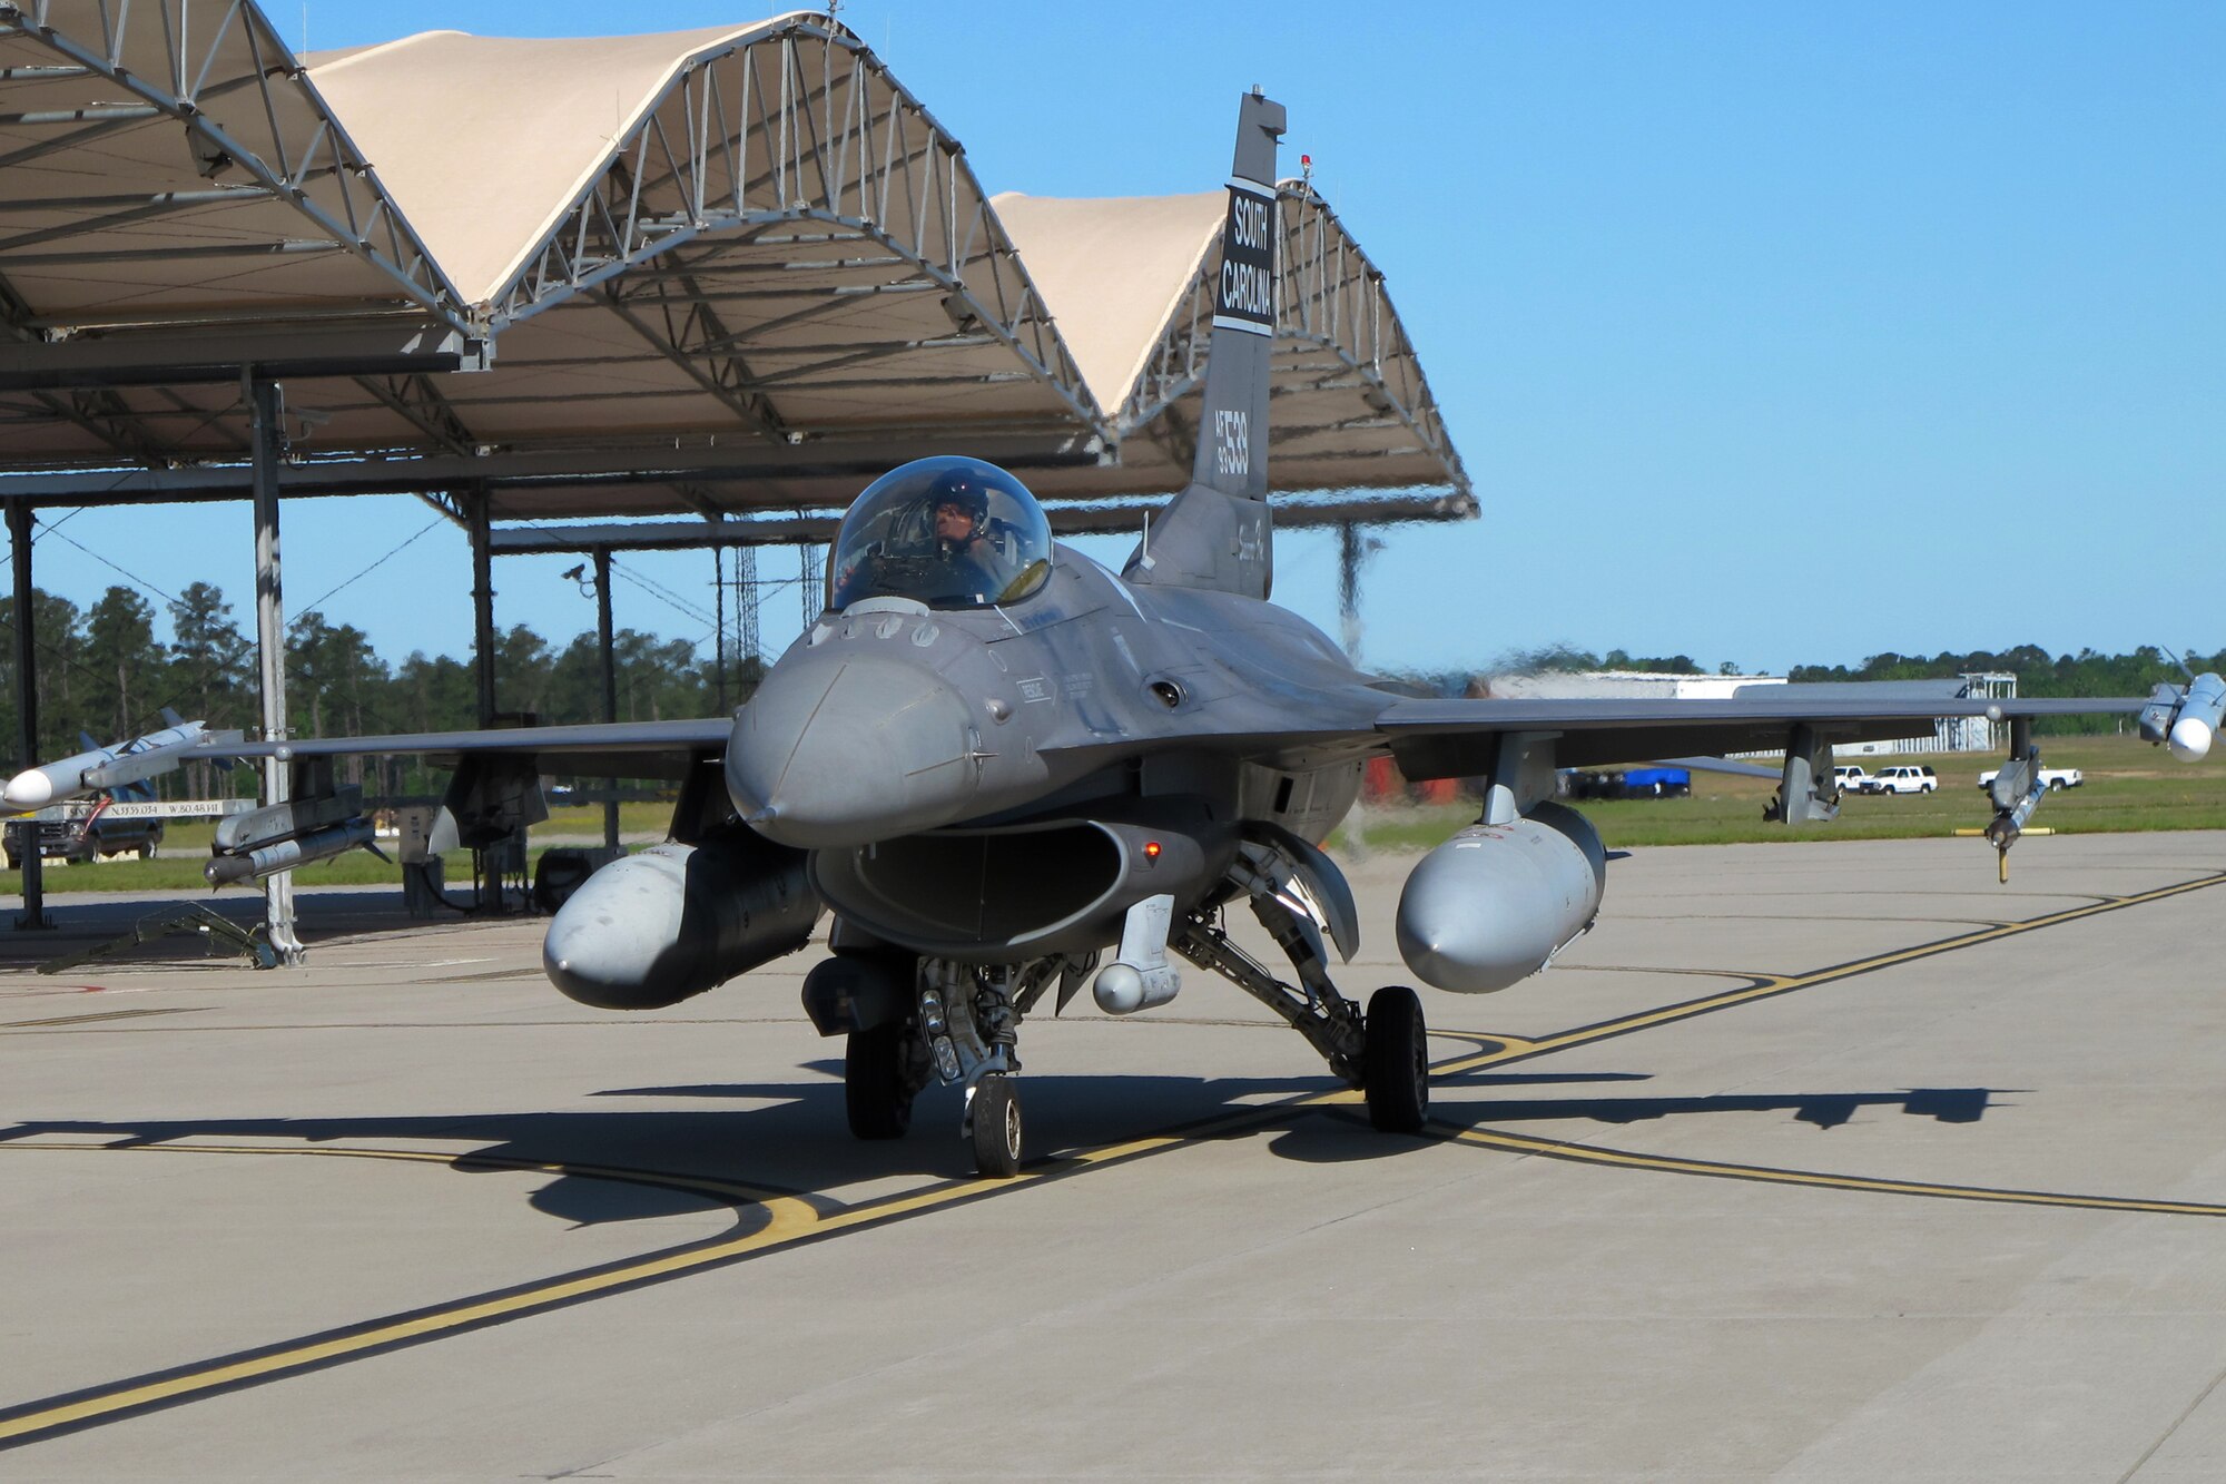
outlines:
{"label": "clear bubble cockpit canopy with the helmeted pilot inside", "polygon": [[866,486],[835,533],[828,608],[910,597],[930,608],[1020,602],[1051,575],[1051,521],[995,463],[913,459]]}

